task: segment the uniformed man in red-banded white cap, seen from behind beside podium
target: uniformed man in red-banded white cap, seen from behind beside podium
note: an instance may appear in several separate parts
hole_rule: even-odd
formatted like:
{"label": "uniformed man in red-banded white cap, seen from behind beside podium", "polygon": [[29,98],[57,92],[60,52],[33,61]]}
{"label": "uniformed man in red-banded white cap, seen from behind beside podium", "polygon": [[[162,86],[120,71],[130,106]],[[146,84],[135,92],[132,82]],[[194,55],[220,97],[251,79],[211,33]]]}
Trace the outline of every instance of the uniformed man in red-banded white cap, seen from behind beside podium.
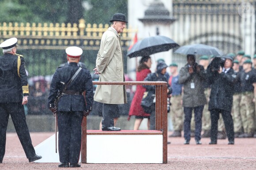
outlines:
{"label": "uniformed man in red-banded white cap, seen from behind beside podium", "polygon": [[[83,116],[89,115],[92,110],[93,84],[90,71],[81,68],[74,81],[63,92],[66,84],[80,69],[78,62],[83,50],[79,47],[68,47],[66,53],[69,64],[57,68],[53,75],[48,97],[48,107],[54,114],[57,113],[59,167],[80,167],[78,161],[82,142],[81,124]],[[85,98],[83,91],[86,91]],[[58,104],[55,105],[54,101],[58,93],[62,94],[62,96]]]}

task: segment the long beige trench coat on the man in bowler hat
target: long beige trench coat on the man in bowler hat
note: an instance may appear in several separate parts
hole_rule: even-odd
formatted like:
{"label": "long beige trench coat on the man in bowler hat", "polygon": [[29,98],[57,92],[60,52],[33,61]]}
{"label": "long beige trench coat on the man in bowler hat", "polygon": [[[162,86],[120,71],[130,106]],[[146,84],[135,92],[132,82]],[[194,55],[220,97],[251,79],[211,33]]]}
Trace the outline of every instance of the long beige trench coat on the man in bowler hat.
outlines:
{"label": "long beige trench coat on the man in bowler hat", "polygon": [[[113,28],[103,33],[100,50],[96,59],[100,74],[99,82],[124,82],[124,58],[120,45],[120,35]],[[94,101],[107,104],[127,103],[123,85],[98,85]]]}

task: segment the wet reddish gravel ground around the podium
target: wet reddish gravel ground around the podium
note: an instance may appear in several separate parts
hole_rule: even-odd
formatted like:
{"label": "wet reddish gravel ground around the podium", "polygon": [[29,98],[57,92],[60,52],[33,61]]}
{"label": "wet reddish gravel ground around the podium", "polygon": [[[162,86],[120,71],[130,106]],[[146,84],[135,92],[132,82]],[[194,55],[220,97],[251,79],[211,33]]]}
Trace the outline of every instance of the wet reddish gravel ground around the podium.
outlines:
{"label": "wet reddish gravel ground around the podium", "polygon": [[[168,135],[171,132],[168,133]],[[30,133],[36,146],[53,133]],[[235,139],[235,145],[218,140],[218,145],[208,145],[210,139],[203,138],[202,145],[194,139],[183,145],[183,137],[168,138],[167,164],[82,164],[85,170],[256,170],[256,138]],[[150,148],[149,148],[150,149]],[[138,151],[139,152],[139,151]],[[136,154],[136,153],[135,153]],[[60,170],[58,163],[28,163],[16,133],[7,134],[6,154],[2,170]]]}

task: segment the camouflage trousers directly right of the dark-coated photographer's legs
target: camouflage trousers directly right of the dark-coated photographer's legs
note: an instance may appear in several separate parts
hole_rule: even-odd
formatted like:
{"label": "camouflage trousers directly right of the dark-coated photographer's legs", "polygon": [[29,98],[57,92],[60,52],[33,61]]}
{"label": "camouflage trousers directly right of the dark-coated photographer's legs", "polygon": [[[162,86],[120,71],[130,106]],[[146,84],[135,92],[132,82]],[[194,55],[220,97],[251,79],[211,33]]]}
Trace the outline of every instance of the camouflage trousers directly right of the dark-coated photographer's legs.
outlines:
{"label": "camouflage trousers directly right of the dark-coated photographer's legs", "polygon": [[231,115],[233,117],[235,133],[239,133],[243,131],[243,123],[242,123],[242,118],[240,113],[240,101],[241,101],[241,94],[234,94]]}

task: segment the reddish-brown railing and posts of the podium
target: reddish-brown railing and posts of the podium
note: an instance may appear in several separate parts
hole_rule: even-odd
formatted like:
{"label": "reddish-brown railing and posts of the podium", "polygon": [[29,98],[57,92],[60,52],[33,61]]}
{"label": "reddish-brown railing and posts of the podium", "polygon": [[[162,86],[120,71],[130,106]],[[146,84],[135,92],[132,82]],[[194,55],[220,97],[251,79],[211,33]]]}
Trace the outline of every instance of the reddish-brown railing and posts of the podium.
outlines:
{"label": "reddish-brown railing and posts of the podium", "polygon": [[[154,85],[155,102],[155,130],[161,131],[163,135],[163,163],[167,163],[167,83],[166,82],[93,82],[94,85]],[[82,125],[82,163],[87,163],[87,119],[83,118]],[[121,132],[121,131],[120,131]],[[119,133],[120,133],[119,132]],[[118,133],[118,132],[117,132]],[[136,131],[134,132],[136,134]]]}

